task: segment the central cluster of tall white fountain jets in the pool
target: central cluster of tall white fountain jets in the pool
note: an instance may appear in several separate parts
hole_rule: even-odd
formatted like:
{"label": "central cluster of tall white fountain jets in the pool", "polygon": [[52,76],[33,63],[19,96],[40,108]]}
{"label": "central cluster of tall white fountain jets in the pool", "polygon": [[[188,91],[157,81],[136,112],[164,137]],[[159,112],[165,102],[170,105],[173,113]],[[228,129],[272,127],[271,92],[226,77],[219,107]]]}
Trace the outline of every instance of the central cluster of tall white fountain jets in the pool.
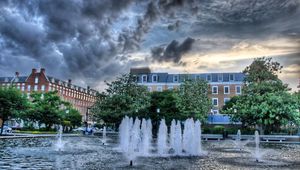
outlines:
{"label": "central cluster of tall white fountain jets in the pool", "polygon": [[160,121],[156,150],[150,152],[152,141],[151,120],[138,118],[133,122],[132,118],[123,118],[120,124],[120,150],[125,153],[133,164],[137,156],[200,156],[202,155],[201,123],[193,119],[187,119],[182,133],[181,122],[172,120],[170,133],[164,119]]}

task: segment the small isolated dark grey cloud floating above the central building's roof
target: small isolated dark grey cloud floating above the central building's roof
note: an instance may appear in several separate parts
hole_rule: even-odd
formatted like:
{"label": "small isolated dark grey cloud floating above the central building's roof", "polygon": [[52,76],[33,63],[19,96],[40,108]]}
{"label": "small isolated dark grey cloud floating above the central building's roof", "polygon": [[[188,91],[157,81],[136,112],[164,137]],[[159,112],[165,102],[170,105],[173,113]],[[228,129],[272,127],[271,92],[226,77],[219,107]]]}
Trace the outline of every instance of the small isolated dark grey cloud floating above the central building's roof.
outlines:
{"label": "small isolated dark grey cloud floating above the central building's roof", "polygon": [[192,48],[194,42],[194,39],[188,37],[181,44],[173,40],[166,47],[154,47],[151,50],[152,58],[156,61],[179,63],[181,57]]}

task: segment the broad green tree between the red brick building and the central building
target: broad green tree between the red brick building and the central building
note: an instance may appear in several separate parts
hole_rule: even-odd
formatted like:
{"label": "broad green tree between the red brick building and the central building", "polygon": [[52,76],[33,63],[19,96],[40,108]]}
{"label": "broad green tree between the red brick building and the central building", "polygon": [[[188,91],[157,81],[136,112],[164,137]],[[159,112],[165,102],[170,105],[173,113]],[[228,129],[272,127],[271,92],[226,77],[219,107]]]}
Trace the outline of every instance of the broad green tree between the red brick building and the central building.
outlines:
{"label": "broad green tree between the red brick building and the central building", "polygon": [[146,87],[138,85],[130,74],[122,75],[111,83],[106,82],[106,85],[108,88],[97,95],[96,103],[91,108],[96,120],[118,124],[125,115],[132,116],[150,103]]}

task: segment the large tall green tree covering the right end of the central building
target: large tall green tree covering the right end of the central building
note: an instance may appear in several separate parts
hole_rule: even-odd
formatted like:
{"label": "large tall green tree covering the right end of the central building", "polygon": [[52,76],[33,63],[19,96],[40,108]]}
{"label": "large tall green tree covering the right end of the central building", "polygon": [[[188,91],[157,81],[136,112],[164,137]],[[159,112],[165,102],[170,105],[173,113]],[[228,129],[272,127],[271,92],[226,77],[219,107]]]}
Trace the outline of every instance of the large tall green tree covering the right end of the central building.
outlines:
{"label": "large tall green tree covering the right end of the central building", "polygon": [[242,95],[228,102],[222,112],[233,114],[234,121],[246,126],[258,126],[262,134],[265,130],[279,131],[290,121],[297,123],[296,100],[277,76],[281,68],[270,58],[255,59],[244,70],[247,77]]}

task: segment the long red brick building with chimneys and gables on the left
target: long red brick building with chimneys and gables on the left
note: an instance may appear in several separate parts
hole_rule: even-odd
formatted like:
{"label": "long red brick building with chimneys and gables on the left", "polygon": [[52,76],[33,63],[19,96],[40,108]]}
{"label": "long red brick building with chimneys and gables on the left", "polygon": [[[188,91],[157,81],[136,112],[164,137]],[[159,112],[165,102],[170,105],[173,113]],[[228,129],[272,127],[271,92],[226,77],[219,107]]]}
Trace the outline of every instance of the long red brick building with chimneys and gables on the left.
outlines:
{"label": "long red brick building with chimneys and gables on the left", "polygon": [[96,90],[89,87],[83,88],[72,84],[72,81],[63,81],[46,75],[45,69],[40,72],[32,69],[29,76],[20,76],[16,72],[13,77],[0,77],[0,87],[10,85],[20,89],[28,97],[32,92],[57,91],[58,95],[64,100],[70,102],[83,116],[84,121],[88,121],[89,108],[96,100]]}

